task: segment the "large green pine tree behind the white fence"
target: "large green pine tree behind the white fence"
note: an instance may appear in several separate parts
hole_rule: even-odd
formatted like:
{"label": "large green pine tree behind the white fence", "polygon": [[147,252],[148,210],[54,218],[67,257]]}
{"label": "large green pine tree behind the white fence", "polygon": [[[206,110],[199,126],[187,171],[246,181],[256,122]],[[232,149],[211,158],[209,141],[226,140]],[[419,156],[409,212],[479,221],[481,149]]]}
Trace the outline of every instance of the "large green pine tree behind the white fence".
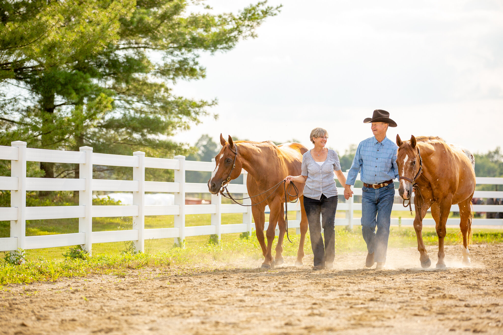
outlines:
{"label": "large green pine tree behind the white fence", "polygon": [[[0,12],[0,88],[22,93],[19,104],[1,111],[0,144],[16,136],[32,147],[167,157],[187,152],[170,137],[216,103],[176,96],[172,85],[204,78],[201,52],[256,37],[279,7],[259,2],[212,14],[198,0],[10,0],[0,2]],[[51,163],[41,168],[57,176]]]}

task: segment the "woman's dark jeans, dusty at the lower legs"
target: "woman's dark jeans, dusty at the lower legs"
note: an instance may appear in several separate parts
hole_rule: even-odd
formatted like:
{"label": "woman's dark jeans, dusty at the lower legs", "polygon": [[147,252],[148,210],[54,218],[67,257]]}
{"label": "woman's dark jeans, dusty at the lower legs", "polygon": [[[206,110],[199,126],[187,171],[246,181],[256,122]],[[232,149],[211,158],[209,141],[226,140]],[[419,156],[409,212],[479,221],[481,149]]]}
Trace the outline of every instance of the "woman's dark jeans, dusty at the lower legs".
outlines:
{"label": "woman's dark jeans, dusty at the lower legs", "polygon": [[[311,247],[314,254],[314,266],[325,266],[325,262],[333,262],[336,254],[336,233],[334,231],[334,220],[337,210],[337,195],[327,198],[321,194],[319,200],[308,198],[304,195],[304,209],[309,224],[309,234],[311,236]],[[319,222],[321,214],[322,224]],[[321,238],[321,226],[325,243]]]}

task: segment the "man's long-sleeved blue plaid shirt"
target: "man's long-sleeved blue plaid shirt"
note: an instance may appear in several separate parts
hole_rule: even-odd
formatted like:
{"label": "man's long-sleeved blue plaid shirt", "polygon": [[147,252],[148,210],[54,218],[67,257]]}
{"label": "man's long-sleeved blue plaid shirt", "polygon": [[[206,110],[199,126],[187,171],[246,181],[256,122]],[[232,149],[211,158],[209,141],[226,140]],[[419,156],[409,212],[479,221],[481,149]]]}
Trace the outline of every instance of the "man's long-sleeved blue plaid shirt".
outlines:
{"label": "man's long-sleeved blue plaid shirt", "polygon": [[346,184],[354,185],[360,170],[360,180],[367,184],[380,184],[398,178],[397,153],[398,146],[387,137],[380,143],[374,136],[360,142]]}

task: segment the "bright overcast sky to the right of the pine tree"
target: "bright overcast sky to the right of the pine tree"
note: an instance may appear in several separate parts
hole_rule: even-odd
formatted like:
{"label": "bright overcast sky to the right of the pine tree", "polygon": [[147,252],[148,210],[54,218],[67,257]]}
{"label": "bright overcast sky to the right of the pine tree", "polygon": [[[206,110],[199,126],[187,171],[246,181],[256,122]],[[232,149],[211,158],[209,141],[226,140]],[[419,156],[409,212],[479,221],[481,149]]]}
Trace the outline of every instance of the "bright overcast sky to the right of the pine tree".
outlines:
{"label": "bright overcast sky to the right of the pine tree", "polygon": [[[215,12],[250,1],[208,2]],[[182,132],[194,144],[220,133],[253,141],[298,139],[314,127],[341,153],[372,136],[363,119],[385,109],[388,137],[441,136],[474,152],[503,146],[503,2],[271,0],[281,13],[256,39],[202,55],[207,77],[175,92],[218,98],[218,120]]]}

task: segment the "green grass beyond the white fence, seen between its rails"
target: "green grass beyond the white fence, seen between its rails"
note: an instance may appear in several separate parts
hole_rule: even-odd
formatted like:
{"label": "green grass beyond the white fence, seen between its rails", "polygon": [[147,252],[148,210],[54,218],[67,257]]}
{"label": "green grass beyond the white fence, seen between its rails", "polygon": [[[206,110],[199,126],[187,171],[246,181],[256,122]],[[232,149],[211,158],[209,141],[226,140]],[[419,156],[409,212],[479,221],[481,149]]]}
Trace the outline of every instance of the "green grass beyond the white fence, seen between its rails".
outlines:
{"label": "green grass beyond the white fence, seen between its rails", "polygon": [[[294,218],[295,212],[289,211],[289,217]],[[358,213],[355,213],[356,216]],[[393,215],[394,214],[394,215]],[[403,214],[403,212],[393,212],[392,216],[397,214]],[[336,217],[344,217],[344,212],[338,212]],[[396,217],[396,216],[395,216]],[[406,216],[405,216],[406,217]],[[186,226],[203,226],[210,225],[210,214],[198,214],[198,215],[187,215],[186,216]],[[269,215],[266,214],[266,220],[269,220]],[[242,222],[242,214],[222,214],[222,222],[225,224],[238,224]],[[37,235],[51,235],[51,234],[67,234],[67,233],[77,233],[78,232],[78,219],[49,219],[49,220],[31,220],[27,221],[26,235],[27,236],[37,236]],[[132,222],[131,217],[96,217],[93,219],[93,230],[94,231],[114,231],[122,229],[131,229]],[[145,217],[145,228],[171,228],[174,227],[174,216],[146,216]],[[336,234],[336,249],[338,252],[348,252],[348,251],[358,251],[365,250],[365,243],[361,238],[361,227],[356,226],[354,232],[348,233],[343,227],[337,227]],[[446,237],[446,244],[456,244],[459,241],[458,232],[459,229],[447,229],[448,236]],[[492,242],[503,242],[501,236],[501,230],[487,230],[487,229],[474,229],[473,231],[473,242],[474,243],[492,243]],[[289,230],[291,237],[296,239],[295,229]],[[10,235],[10,221],[0,221],[0,237],[9,237]],[[238,240],[239,234],[224,234],[222,235],[222,245],[235,243]],[[195,236],[188,237],[186,239],[186,245],[188,248],[205,246],[208,243],[208,236]],[[425,244],[435,245],[437,244],[437,234],[433,228],[424,228],[423,239]],[[256,238],[250,239],[255,241],[254,244],[250,245],[250,249],[256,250],[258,255],[262,257],[259,253],[260,246],[256,241]],[[285,239],[286,245],[290,243]],[[250,242],[248,242],[250,243]],[[152,241],[146,241],[145,245],[150,246],[151,253],[158,253],[162,251],[169,250],[173,247],[174,239],[156,239]],[[294,243],[298,245],[297,243]],[[390,247],[411,247],[416,244],[415,232],[411,227],[398,229],[397,227],[391,228],[389,246]],[[286,248],[286,247],[285,247]],[[42,257],[45,259],[63,259],[61,255],[68,248],[46,248],[46,249],[36,249],[30,250],[30,259],[36,259]],[[124,242],[115,243],[97,243],[93,244],[93,254],[94,255],[120,255],[121,251],[126,249],[126,244]],[[306,243],[305,252],[311,253],[310,243]],[[296,247],[292,249],[292,255],[296,254]],[[257,256],[257,257],[259,257]]]}

